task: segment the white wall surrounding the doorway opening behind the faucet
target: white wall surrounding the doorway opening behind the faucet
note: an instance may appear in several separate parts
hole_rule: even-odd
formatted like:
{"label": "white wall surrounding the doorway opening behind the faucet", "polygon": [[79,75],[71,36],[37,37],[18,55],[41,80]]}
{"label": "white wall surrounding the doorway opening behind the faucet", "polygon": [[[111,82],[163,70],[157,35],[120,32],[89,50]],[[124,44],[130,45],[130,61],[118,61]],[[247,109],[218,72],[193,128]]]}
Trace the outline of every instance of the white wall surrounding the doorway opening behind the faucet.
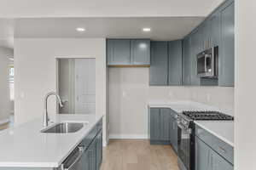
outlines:
{"label": "white wall surrounding the doorway opening behind the faucet", "polygon": [[[106,113],[106,40],[104,38],[16,38],[16,124],[28,122],[36,117],[43,118],[44,95],[49,91],[56,91],[56,57],[96,58],[96,114]],[[55,119],[53,97],[49,101],[49,116]],[[103,126],[106,126],[105,122]],[[105,131],[103,135],[105,139]]]}

